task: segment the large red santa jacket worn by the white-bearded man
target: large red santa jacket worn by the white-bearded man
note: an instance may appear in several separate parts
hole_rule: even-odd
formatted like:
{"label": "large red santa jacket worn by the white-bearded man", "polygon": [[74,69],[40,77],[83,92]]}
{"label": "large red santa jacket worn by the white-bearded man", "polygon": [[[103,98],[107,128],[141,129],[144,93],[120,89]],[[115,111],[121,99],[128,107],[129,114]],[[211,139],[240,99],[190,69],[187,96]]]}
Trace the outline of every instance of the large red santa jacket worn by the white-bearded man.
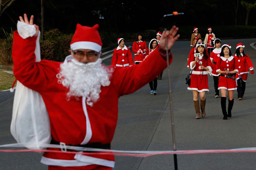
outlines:
{"label": "large red santa jacket worn by the white-bearded man", "polygon": [[[83,97],[79,100],[66,100],[69,89],[59,84],[56,77],[61,62],[35,62],[36,38],[23,39],[17,31],[14,32],[14,75],[23,85],[41,94],[49,113],[52,139],[65,144],[110,144],[117,123],[119,97],[137,91],[166,68],[166,61],[158,50],[154,50],[148,57],[151,59],[140,65],[113,68],[111,84],[101,88],[99,100],[90,107]],[[98,166],[113,167],[114,156],[44,153],[41,162],[66,167],[87,166],[88,169],[93,169]]]}

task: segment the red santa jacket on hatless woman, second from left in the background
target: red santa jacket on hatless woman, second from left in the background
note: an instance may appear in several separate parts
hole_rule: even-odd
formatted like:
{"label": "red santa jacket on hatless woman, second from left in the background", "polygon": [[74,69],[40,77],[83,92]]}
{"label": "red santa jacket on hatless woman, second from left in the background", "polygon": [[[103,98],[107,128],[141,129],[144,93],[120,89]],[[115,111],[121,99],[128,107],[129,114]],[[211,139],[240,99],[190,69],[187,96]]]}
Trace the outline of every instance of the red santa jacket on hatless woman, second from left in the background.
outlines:
{"label": "red santa jacket on hatless woman, second from left in the background", "polygon": [[[143,50],[147,50],[147,45],[145,41],[134,41],[132,45],[132,51],[134,52],[134,62],[143,62],[146,53]],[[140,51],[140,54],[138,53]]]}

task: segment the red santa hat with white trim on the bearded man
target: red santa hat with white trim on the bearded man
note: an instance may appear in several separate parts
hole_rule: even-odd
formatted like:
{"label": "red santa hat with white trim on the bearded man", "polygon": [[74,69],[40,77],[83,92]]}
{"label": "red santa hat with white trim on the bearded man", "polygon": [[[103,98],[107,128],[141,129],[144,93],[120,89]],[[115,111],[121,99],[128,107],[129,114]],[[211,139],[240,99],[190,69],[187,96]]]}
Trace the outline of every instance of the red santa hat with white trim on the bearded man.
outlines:
{"label": "red santa hat with white trim on the bearded man", "polygon": [[96,52],[101,51],[102,40],[99,36],[98,28],[98,24],[93,27],[77,24],[75,34],[70,42],[70,48],[72,50],[89,49]]}

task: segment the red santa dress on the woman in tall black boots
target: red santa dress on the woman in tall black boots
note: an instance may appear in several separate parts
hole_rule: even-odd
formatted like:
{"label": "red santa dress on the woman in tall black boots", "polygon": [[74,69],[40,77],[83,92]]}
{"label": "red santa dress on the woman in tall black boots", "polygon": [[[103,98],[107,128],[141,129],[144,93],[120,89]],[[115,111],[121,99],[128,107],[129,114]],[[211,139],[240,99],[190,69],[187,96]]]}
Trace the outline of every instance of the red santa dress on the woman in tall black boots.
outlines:
{"label": "red santa dress on the woman in tall black boots", "polygon": [[[238,72],[238,59],[237,57],[230,56],[229,58],[225,57],[219,57],[217,60],[216,65],[216,72],[218,71],[225,71],[225,69],[228,69],[229,71],[237,71]],[[222,75],[230,75],[232,74],[222,74]],[[232,76],[235,77],[235,76]],[[236,80],[228,77],[219,77],[219,83],[218,83],[218,90],[220,89],[226,89],[227,91],[233,91],[236,90]]]}

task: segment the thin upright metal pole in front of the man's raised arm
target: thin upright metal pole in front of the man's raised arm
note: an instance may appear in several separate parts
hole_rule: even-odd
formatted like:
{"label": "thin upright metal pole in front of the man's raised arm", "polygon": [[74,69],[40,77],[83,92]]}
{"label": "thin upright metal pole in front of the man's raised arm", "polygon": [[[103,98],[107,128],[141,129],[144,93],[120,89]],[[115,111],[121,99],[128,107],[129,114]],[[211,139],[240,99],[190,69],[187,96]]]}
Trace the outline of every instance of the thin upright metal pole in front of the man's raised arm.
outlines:
{"label": "thin upright metal pole in front of the man's raised arm", "polygon": [[[167,31],[167,28],[165,28],[165,31]],[[170,113],[171,113],[171,123],[172,123],[172,144],[173,144],[173,150],[176,150],[175,146],[175,130],[174,130],[174,118],[173,118],[173,112],[172,112],[172,89],[171,89],[171,80],[170,80],[170,70],[169,70],[169,53],[168,53],[168,45],[167,45],[167,37],[166,40],[166,57],[167,57],[167,76],[168,76],[168,85],[169,85],[169,100],[170,100]],[[174,158],[174,167],[175,170],[178,170],[178,164],[177,164],[177,154],[173,155]]]}

